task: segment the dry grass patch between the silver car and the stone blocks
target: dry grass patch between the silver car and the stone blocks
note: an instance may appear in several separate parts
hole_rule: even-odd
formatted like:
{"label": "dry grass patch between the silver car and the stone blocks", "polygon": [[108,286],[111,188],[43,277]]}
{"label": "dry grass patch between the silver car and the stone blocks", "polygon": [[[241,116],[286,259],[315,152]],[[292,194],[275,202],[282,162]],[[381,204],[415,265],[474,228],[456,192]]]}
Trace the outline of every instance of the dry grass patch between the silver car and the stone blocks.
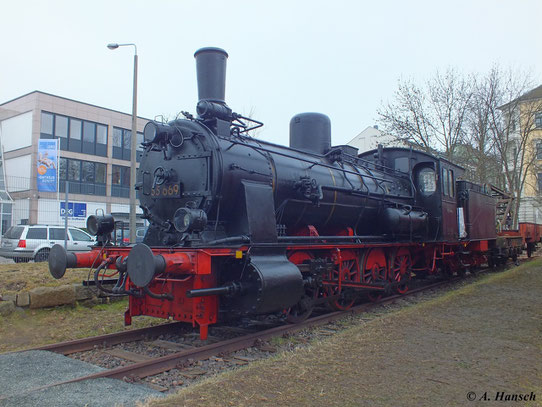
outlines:
{"label": "dry grass patch between the silver car and the stone blocks", "polygon": [[88,269],[69,269],[60,279],[49,273],[49,265],[44,263],[14,263],[0,265],[0,294],[15,294],[36,287],[56,287],[64,284],[81,283],[86,280]]}

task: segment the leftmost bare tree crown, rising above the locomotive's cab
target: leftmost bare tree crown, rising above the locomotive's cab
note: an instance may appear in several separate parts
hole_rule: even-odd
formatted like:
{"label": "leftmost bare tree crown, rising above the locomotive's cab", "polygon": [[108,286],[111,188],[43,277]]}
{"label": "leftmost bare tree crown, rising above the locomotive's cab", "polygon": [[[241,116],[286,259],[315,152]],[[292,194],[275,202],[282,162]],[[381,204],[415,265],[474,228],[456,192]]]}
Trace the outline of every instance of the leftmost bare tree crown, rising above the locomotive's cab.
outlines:
{"label": "leftmost bare tree crown, rising above the locomotive's cab", "polygon": [[379,122],[398,140],[453,159],[465,136],[471,97],[470,79],[453,69],[437,72],[423,88],[399,81],[395,100],[378,110]]}

